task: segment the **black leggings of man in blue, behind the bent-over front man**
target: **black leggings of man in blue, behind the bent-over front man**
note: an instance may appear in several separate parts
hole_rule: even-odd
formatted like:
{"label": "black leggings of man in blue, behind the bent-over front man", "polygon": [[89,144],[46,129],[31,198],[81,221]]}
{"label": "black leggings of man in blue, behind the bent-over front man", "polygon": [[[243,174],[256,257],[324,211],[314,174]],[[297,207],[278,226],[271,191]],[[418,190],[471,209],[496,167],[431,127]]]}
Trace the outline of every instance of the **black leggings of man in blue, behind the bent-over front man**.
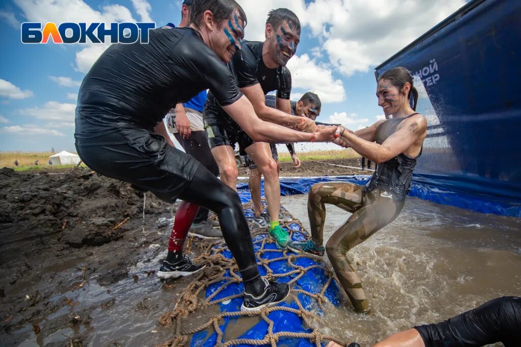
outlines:
{"label": "black leggings of man in blue, behind the bent-over front man", "polygon": [[[183,139],[178,132],[173,135],[181,146],[183,146],[184,152],[193,156],[215,176],[219,176],[219,168],[217,167],[212,151],[210,151],[210,147],[208,146],[208,139],[206,138],[206,132],[204,130],[192,131],[189,139]],[[200,223],[207,218],[208,209],[201,207],[197,212],[197,215],[195,215],[193,222]]]}

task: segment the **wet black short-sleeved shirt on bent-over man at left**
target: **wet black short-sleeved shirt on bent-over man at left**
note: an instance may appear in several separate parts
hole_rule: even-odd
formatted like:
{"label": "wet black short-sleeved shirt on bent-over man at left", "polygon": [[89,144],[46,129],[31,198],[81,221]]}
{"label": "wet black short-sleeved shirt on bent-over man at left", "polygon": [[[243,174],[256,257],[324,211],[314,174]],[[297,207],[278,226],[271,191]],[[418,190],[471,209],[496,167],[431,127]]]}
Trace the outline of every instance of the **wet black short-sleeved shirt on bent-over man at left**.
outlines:
{"label": "wet black short-sleeved shirt on bent-over man at left", "polygon": [[151,30],[148,44],[113,44],[80,87],[75,137],[152,130],[170,108],[205,89],[220,105],[242,96],[226,64],[191,28]]}

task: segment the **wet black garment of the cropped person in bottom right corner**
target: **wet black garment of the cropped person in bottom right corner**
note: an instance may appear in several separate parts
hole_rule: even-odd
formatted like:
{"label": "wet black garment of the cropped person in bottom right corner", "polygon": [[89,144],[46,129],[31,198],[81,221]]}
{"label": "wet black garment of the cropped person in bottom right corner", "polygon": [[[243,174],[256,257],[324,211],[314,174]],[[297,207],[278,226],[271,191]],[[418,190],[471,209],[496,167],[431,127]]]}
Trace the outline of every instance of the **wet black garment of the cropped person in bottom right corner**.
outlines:
{"label": "wet black garment of the cropped person in bottom right corner", "polygon": [[521,298],[503,296],[438,324],[414,327],[426,347],[521,345]]}

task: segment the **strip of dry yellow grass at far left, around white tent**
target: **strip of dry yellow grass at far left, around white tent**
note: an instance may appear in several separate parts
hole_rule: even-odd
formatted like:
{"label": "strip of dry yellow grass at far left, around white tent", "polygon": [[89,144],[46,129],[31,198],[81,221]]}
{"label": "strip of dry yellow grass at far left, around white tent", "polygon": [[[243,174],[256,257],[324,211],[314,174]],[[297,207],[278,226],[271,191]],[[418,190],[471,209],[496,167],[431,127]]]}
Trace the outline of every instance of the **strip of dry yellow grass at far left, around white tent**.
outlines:
{"label": "strip of dry yellow grass at far left, around white tent", "polygon": [[[10,167],[16,171],[41,170],[41,169],[66,169],[76,165],[49,165],[49,156],[52,152],[0,152],[0,167]],[[18,166],[15,166],[18,160]],[[35,160],[40,161],[40,165],[34,165]],[[83,164],[82,164],[83,165]]]}

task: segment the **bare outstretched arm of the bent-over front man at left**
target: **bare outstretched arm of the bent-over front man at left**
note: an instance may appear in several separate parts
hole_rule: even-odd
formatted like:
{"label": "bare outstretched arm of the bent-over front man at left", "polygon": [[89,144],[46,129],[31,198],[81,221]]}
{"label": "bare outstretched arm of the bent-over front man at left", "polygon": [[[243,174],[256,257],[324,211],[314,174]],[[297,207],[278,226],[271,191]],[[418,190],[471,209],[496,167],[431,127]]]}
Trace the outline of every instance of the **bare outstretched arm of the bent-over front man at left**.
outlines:
{"label": "bare outstretched arm of the bent-over front man at left", "polygon": [[239,127],[241,127],[253,141],[287,143],[327,142],[335,139],[337,127],[325,127],[314,133],[305,133],[263,121],[256,116],[252,104],[245,95],[230,105],[222,106],[222,109],[237,122]]}

